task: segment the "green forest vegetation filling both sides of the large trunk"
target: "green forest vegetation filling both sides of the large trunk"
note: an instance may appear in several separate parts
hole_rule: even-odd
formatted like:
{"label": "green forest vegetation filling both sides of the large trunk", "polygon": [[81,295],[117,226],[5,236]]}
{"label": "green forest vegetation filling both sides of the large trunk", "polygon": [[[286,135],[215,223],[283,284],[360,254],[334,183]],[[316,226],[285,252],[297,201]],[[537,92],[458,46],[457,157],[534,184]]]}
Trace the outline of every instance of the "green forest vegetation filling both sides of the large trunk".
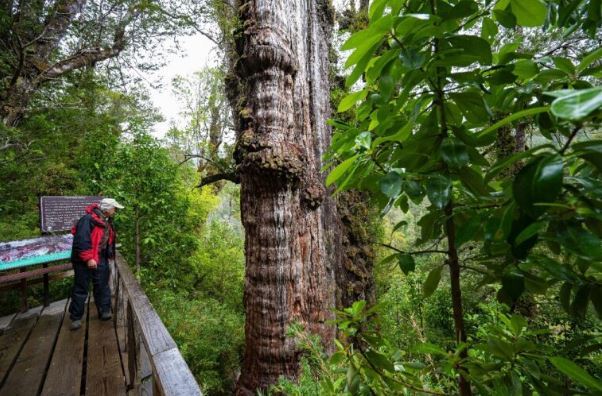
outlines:
{"label": "green forest vegetation filling both sides of the large trunk", "polygon": [[[132,40],[119,56],[131,60],[128,48],[152,51],[212,21],[216,66],[173,81],[185,125],[154,136],[160,116],[141,85],[123,84],[127,66],[94,61],[40,83],[18,122],[0,126],[0,241],[39,235],[42,195],[123,202],[121,251],[210,395],[232,393],[245,325],[227,90],[238,21],[222,3],[179,15],[177,4],[147,4],[131,17],[146,22],[122,29]],[[326,54],[338,110],[326,183],[336,197],[365,192],[339,205],[365,209],[355,231],[370,234],[374,295],[337,312],[334,353],[291,325],[301,374],[267,392],[602,392],[601,7],[341,4]],[[2,12],[3,31],[18,33]],[[124,15],[96,43],[121,45]],[[101,26],[70,34],[88,40]],[[77,47],[66,41],[50,58]],[[5,86],[20,64],[7,43]],[[70,282],[51,283],[54,297]],[[17,306],[16,293],[0,294],[0,315]]]}

